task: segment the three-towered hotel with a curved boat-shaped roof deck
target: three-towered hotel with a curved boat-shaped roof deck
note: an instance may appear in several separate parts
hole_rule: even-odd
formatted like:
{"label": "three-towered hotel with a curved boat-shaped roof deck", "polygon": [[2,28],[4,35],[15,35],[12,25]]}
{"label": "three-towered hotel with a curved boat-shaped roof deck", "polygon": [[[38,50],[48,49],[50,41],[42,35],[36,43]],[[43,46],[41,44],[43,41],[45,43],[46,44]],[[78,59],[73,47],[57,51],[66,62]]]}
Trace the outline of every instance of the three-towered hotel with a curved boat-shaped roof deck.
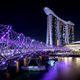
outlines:
{"label": "three-towered hotel with a curved boat-shaped roof deck", "polygon": [[72,43],[74,41],[74,23],[59,18],[48,7],[44,8],[44,12],[47,15],[46,44],[59,46]]}

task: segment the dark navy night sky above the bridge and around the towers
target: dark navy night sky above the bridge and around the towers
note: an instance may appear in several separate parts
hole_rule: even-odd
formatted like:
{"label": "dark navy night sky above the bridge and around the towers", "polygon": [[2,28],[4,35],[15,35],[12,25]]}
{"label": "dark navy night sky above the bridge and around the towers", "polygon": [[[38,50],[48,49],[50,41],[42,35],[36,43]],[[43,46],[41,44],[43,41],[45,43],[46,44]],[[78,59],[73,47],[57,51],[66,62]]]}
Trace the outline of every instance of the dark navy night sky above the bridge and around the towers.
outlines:
{"label": "dark navy night sky above the bridge and around the towers", "polygon": [[77,0],[26,0],[0,3],[0,24],[39,41],[46,41],[46,18],[43,8],[51,8],[59,17],[75,24],[75,40],[80,40],[80,3]]}

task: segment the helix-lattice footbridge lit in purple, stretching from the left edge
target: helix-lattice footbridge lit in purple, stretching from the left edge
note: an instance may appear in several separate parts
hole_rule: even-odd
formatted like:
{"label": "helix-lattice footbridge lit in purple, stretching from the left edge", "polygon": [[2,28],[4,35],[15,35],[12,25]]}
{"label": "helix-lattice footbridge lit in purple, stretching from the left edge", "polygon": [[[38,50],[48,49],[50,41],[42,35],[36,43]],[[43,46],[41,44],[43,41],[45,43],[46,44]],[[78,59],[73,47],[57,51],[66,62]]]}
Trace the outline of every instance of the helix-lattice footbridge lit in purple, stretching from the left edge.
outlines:
{"label": "helix-lattice footbridge lit in purple, stretching from the left edge", "polygon": [[70,49],[60,46],[46,46],[45,43],[25,37],[22,33],[16,33],[10,25],[0,24],[0,66],[10,60],[17,61],[22,58],[34,56],[79,56],[73,54]]}

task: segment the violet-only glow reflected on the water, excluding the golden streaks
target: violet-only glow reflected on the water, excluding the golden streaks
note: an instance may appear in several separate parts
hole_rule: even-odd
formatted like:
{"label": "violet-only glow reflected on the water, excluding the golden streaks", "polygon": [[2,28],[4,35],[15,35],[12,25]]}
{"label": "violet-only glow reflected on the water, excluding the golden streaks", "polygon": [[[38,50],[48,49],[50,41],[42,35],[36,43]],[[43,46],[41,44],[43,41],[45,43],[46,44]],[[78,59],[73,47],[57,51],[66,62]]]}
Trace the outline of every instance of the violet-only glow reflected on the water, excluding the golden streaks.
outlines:
{"label": "violet-only glow reflected on the water, excluding the golden streaks", "polygon": [[49,71],[41,80],[61,80],[57,79],[60,72],[66,76],[69,72],[69,65],[66,65],[64,62],[57,62],[54,67],[49,68]]}

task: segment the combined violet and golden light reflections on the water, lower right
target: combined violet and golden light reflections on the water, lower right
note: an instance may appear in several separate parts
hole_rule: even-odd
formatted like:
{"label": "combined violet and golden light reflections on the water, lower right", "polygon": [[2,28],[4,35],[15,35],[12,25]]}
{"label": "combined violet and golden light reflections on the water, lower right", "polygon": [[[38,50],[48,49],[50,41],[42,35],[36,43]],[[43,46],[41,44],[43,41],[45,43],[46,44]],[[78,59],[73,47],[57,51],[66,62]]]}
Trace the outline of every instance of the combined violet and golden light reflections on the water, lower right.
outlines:
{"label": "combined violet and golden light reflections on the water, lower right", "polygon": [[80,76],[80,58],[60,57],[42,80],[78,80]]}

